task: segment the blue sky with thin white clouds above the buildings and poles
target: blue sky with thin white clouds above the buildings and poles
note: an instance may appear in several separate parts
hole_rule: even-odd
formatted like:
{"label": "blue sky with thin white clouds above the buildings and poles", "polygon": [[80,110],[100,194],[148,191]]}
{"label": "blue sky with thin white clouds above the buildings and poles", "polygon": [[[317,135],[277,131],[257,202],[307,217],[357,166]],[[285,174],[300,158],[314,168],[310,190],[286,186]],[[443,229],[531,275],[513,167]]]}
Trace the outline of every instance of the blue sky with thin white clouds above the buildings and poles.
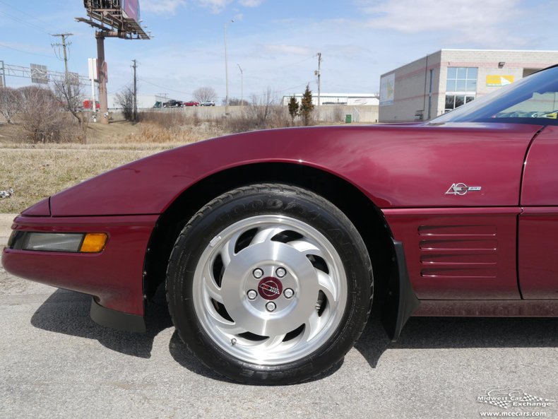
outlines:
{"label": "blue sky with thin white clouds above the buildings and poles", "polygon": [[[70,70],[87,74],[96,56],[81,0],[0,0],[0,60],[63,71],[52,33],[69,38]],[[223,25],[227,26],[230,96],[270,88],[302,93],[322,53],[323,93],[375,93],[379,76],[441,48],[558,49],[556,0],[143,0],[152,40],[107,38],[109,93],[131,83],[138,60],[141,94],[190,100],[196,88],[225,96]],[[6,78],[6,85],[30,83]]]}

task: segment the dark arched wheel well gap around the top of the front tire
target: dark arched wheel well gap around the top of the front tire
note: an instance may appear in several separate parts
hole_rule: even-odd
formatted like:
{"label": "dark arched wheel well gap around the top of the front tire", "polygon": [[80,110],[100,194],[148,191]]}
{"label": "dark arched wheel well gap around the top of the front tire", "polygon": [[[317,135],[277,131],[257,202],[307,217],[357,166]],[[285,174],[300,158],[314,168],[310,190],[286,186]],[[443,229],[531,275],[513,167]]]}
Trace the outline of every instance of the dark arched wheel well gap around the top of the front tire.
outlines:
{"label": "dark arched wheel well gap around the top of the front tire", "polygon": [[337,206],[355,225],[367,246],[374,270],[374,300],[382,297],[393,261],[391,232],[379,209],[354,185],[314,167],[257,163],[210,175],[186,189],[162,213],[150,238],[143,292],[148,300],[165,281],[167,261],[179,233],[190,218],[216,196],[254,183],[285,183],[309,189]]}

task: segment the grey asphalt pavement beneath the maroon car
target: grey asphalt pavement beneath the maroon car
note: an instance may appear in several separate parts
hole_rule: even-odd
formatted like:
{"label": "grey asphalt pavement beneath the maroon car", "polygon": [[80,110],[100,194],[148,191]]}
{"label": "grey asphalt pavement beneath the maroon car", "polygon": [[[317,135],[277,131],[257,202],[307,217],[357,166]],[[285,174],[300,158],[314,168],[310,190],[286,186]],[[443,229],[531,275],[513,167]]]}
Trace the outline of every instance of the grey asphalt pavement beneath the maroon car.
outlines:
{"label": "grey asphalt pavement beneath the maroon car", "polygon": [[[413,318],[397,343],[372,319],[341,365],[269,387],[196,361],[162,297],[146,334],[97,326],[89,304],[0,268],[0,418],[558,418],[558,319]],[[479,401],[487,391],[507,408]],[[512,405],[518,391],[530,405]]]}

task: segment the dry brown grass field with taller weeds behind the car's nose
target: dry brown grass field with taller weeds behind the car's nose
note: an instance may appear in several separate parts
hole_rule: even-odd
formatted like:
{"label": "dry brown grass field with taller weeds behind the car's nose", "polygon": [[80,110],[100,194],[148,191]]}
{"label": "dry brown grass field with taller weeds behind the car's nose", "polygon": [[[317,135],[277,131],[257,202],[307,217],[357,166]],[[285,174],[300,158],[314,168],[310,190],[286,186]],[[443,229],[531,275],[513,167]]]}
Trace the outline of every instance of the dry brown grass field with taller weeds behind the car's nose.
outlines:
{"label": "dry brown grass field with taller weeds behind the car's nose", "polygon": [[[146,112],[142,122],[89,124],[86,143],[25,143],[21,126],[0,123],[0,213],[18,213],[33,203],[102,172],[194,141],[231,132],[288,125],[285,112],[254,107],[242,117],[200,121],[184,112]],[[286,122],[286,123],[285,123]]]}

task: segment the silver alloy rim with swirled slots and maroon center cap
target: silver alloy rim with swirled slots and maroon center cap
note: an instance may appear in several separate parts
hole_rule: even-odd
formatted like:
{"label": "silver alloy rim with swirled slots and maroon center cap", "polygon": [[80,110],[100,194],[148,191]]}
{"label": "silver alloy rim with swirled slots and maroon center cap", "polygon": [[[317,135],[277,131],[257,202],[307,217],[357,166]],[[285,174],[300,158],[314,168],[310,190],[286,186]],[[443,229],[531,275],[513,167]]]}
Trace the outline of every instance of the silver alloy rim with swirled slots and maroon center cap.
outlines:
{"label": "silver alloy rim with swirled slots and maroon center cap", "polygon": [[[285,270],[281,278],[278,269]],[[278,215],[246,218],[215,235],[198,260],[192,291],[206,334],[235,358],[258,365],[299,360],[323,346],[348,299],[333,244],[311,225]]]}

